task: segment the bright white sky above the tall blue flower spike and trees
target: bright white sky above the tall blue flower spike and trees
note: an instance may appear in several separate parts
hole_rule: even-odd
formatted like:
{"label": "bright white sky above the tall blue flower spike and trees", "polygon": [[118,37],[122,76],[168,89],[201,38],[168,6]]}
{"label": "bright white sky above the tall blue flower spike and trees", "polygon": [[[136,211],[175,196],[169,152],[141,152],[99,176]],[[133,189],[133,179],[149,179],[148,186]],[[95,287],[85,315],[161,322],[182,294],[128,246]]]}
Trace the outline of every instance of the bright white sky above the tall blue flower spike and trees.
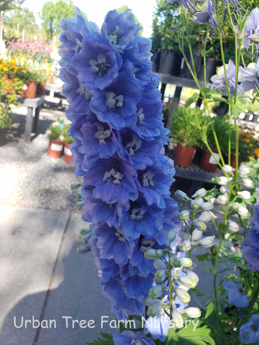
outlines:
{"label": "bright white sky above the tall blue flower spike and trees", "polygon": [[[41,11],[46,0],[25,0],[23,7],[28,7],[34,12],[37,23],[40,24],[38,12]],[[150,37],[152,32],[152,13],[155,9],[155,0],[74,0],[74,5],[79,7],[87,15],[87,18],[101,26],[105,14],[109,10],[114,10],[122,5],[130,7],[143,24],[144,37]]]}

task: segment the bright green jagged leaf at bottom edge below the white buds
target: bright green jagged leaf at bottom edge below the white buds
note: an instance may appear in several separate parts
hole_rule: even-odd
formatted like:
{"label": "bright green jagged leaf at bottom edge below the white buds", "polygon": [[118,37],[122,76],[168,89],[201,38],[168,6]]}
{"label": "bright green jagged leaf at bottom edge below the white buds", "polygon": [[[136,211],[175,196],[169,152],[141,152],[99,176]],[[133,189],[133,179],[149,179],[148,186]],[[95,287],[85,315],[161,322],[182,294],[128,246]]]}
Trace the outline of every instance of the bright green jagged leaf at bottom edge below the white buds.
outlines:
{"label": "bright green jagged leaf at bottom edge below the white buds", "polygon": [[[196,324],[195,321],[194,324]],[[207,326],[196,328],[194,332],[193,330],[193,323],[189,323],[186,328],[181,328],[176,333],[181,345],[215,345],[214,340],[210,336],[211,331]]]}

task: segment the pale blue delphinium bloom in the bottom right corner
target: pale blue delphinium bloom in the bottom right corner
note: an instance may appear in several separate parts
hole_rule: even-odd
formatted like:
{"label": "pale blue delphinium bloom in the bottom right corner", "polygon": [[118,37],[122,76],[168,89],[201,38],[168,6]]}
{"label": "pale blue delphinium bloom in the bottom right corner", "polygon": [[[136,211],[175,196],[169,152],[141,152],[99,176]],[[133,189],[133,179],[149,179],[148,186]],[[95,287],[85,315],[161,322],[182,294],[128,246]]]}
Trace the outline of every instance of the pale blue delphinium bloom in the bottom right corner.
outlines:
{"label": "pale blue delphinium bloom in the bottom right corner", "polygon": [[259,315],[253,314],[250,320],[240,327],[239,341],[253,344],[259,341]]}

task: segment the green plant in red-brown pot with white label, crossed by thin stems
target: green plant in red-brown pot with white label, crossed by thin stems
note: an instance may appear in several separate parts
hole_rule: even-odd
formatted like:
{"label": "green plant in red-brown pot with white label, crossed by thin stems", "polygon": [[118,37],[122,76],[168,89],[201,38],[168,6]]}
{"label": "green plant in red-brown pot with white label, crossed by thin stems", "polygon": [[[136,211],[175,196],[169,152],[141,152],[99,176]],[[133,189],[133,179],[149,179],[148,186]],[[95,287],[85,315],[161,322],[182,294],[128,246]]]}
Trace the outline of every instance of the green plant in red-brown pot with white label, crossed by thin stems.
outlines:
{"label": "green plant in red-brown pot with white label, crossed by thin stems", "polygon": [[[211,121],[211,118],[208,116],[203,117],[204,123],[208,123]],[[229,132],[229,124],[225,121],[222,117],[214,117],[213,118],[213,125],[215,132],[217,134],[218,141],[220,142],[220,148],[223,154],[228,154],[228,132]],[[231,136],[234,135],[234,132],[231,133]],[[215,144],[214,135],[212,132],[211,126],[209,126],[206,137],[210,148],[213,151],[214,156],[219,160],[219,154],[217,151],[217,146]],[[200,161],[200,167],[207,171],[215,171],[218,167],[218,163],[213,157],[213,155],[208,151],[207,146],[202,142],[202,156]]]}

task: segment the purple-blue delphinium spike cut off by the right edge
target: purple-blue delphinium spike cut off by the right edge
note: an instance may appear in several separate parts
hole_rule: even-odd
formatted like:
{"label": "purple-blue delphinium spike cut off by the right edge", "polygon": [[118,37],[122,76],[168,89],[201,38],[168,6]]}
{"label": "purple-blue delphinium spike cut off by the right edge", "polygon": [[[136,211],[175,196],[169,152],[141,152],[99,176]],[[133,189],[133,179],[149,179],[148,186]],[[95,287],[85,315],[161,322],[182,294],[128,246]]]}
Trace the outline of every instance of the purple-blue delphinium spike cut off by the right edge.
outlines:
{"label": "purple-blue delphinium spike cut off by the right edge", "polygon": [[247,268],[252,272],[259,271],[259,204],[253,206],[253,215],[249,221],[250,229],[243,240],[243,258],[247,261]]}

